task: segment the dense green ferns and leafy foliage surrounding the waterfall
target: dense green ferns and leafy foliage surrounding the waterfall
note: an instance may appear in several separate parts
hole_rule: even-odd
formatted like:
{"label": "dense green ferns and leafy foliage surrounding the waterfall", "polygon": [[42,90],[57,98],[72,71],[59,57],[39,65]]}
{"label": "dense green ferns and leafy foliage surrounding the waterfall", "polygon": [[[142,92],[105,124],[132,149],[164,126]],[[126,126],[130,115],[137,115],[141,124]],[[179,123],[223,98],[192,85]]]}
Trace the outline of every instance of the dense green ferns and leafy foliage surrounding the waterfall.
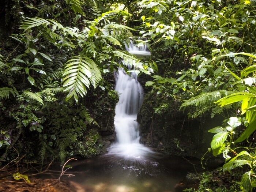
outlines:
{"label": "dense green ferns and leafy foliage surrounding the waterfall", "polygon": [[[241,190],[252,191],[255,5],[253,0],[5,0],[1,162],[25,154],[26,161],[41,162],[99,154],[99,133],[108,129],[103,121],[113,118],[118,101],[112,74],[125,60],[137,74],[152,75],[146,86],[157,99],[155,114],[177,102],[188,118],[229,115],[222,125],[209,127],[215,133],[209,151],[223,154],[223,171],[239,169]],[[149,61],[125,52],[133,35],[143,37],[138,46],[148,45]],[[207,187],[198,190],[215,190]]]}

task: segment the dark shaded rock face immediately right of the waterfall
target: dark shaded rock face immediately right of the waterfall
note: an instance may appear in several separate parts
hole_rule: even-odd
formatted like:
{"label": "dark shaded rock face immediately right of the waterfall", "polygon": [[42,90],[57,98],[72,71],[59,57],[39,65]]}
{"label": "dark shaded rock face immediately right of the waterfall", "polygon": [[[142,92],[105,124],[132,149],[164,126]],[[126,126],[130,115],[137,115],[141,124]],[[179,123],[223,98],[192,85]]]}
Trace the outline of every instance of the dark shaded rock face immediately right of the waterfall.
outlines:
{"label": "dark shaded rock face immediately right of the waterfall", "polygon": [[[209,129],[221,125],[223,119],[193,119],[179,110],[180,103],[166,100],[168,107],[160,114],[157,94],[147,93],[138,113],[141,142],[168,155],[202,158],[210,147],[213,134]],[[211,155],[212,156],[212,155]]]}

